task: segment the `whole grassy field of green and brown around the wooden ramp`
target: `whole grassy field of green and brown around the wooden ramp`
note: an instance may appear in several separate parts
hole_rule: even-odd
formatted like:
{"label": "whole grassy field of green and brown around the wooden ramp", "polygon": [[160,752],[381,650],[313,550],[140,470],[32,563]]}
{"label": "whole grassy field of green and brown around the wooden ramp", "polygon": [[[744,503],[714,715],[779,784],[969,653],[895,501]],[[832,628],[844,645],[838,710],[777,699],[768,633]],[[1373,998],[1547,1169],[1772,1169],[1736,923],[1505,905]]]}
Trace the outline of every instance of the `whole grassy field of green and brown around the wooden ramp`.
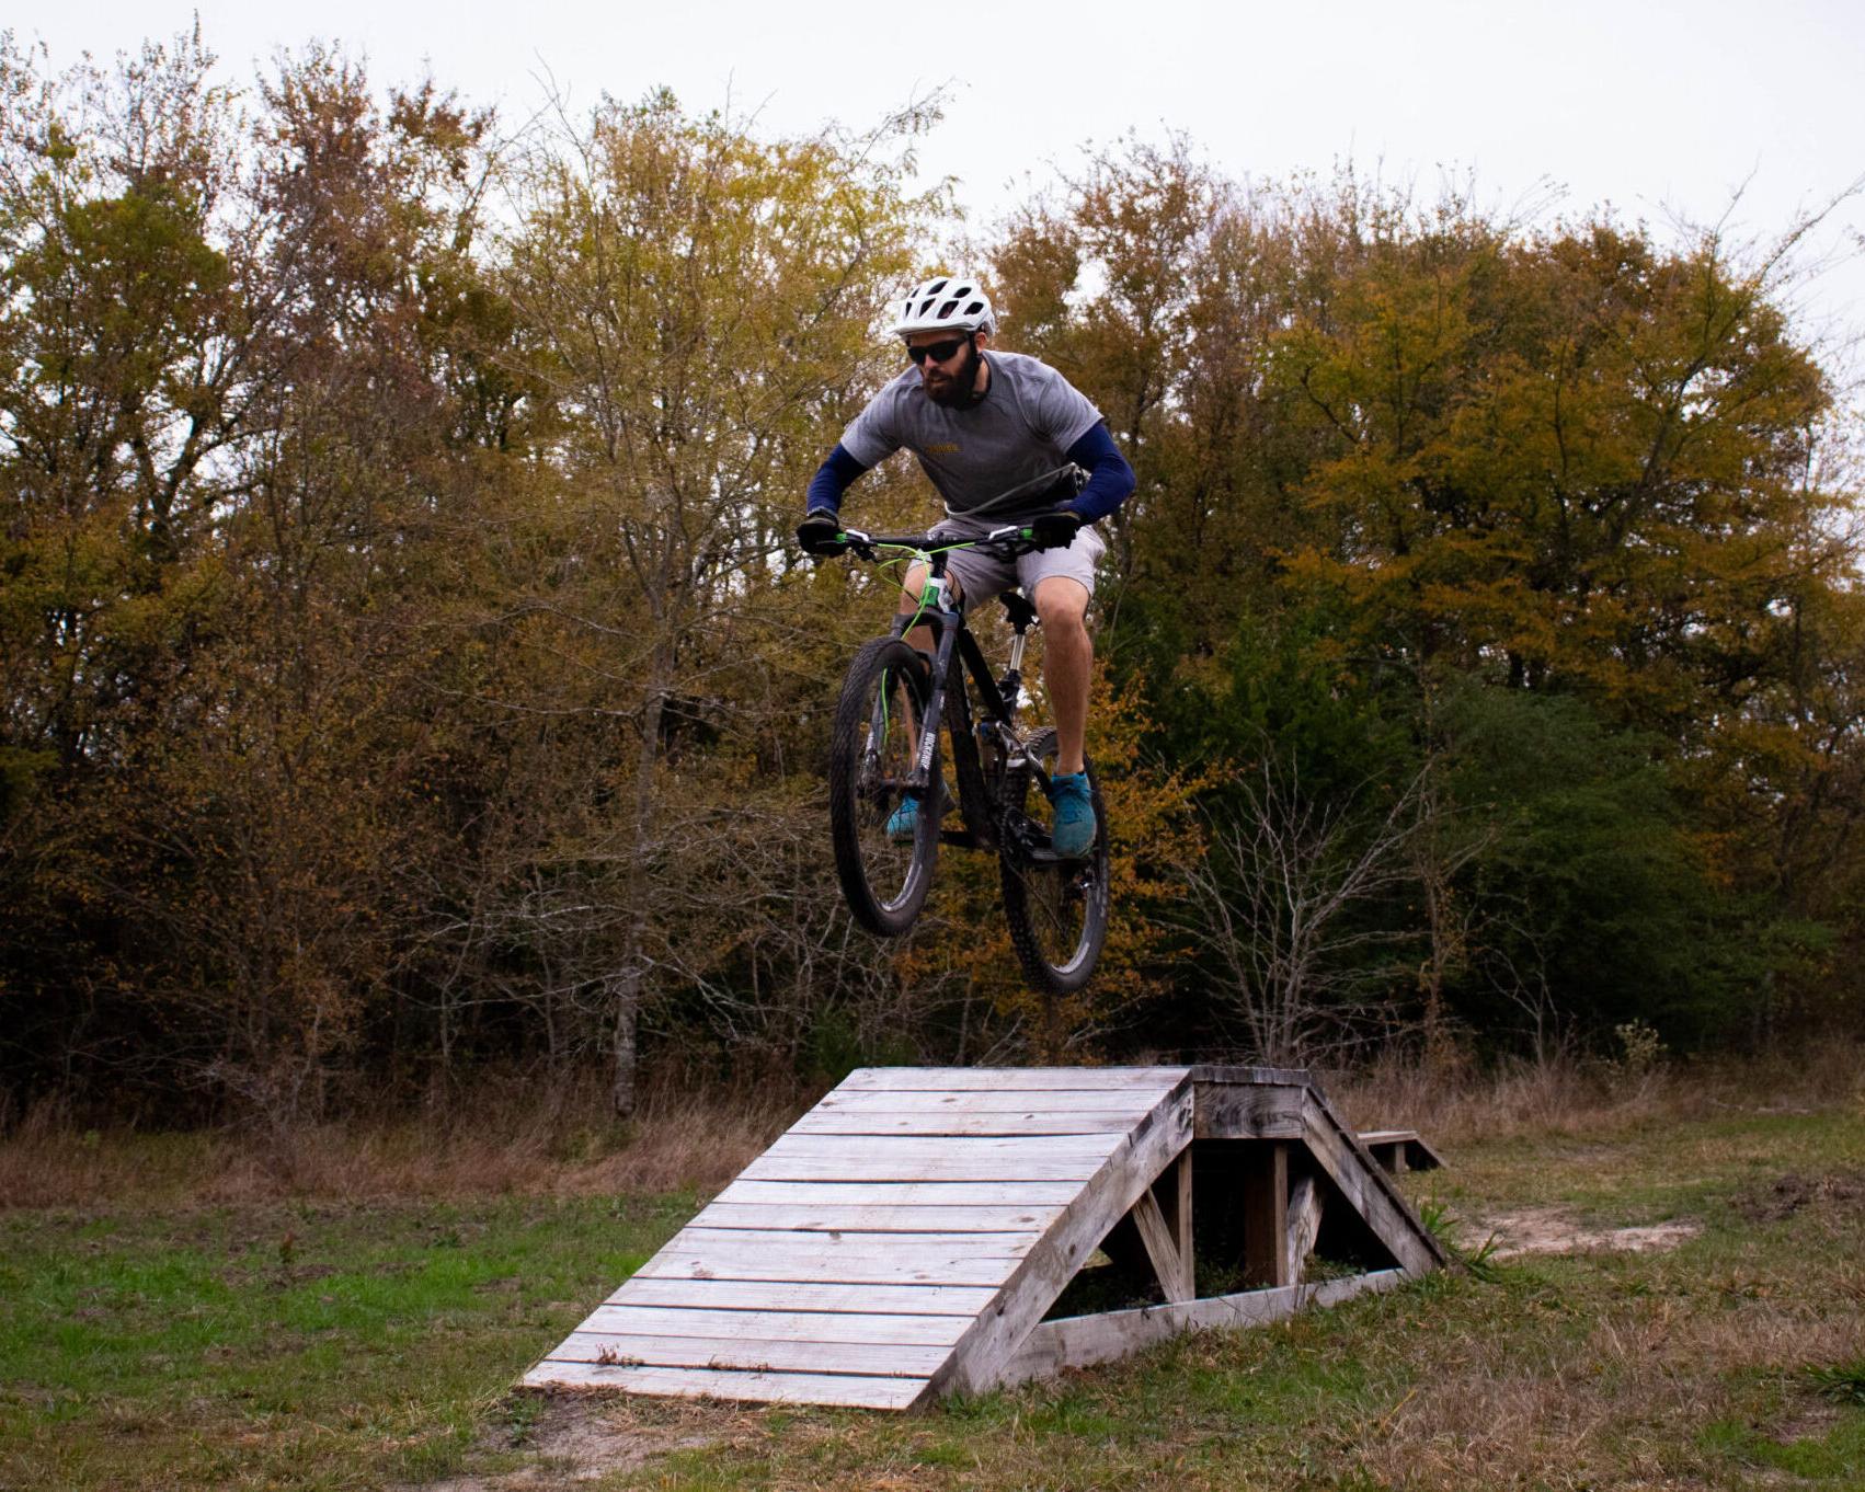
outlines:
{"label": "whole grassy field of green and brown around the wooden ramp", "polygon": [[688,1143],[684,1188],[653,1132],[505,1194],[407,1138],[270,1186],[200,1138],[17,1140],[0,1486],[1865,1486],[1865,1089],[1634,1087],[1347,1093],[1447,1151],[1408,1184],[1466,1251],[1568,1251],[891,1417],[507,1391],[781,1115]]}

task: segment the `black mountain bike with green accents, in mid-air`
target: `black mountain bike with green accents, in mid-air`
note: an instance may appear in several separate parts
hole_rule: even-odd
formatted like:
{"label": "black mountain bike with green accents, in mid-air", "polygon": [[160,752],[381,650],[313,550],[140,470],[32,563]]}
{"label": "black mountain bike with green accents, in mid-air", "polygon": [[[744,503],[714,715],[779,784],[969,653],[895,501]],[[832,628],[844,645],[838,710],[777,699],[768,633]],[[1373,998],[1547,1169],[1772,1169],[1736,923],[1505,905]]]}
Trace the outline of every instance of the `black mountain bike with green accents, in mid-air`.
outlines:
{"label": "black mountain bike with green accents, in mid-air", "polygon": [[[1050,472],[977,511],[1046,490],[1074,472]],[[1011,647],[1007,668],[994,677],[962,602],[947,601],[951,554],[977,548],[1015,558],[1037,548],[1031,532],[1007,524],[983,539],[953,541],[850,528],[839,537],[871,563],[927,565],[919,610],[897,615],[890,636],[860,647],[836,705],[830,834],[849,910],[871,932],[899,936],[925,906],[940,845],[994,850],[1003,916],[1029,983],[1048,994],[1082,988],[1108,936],[1108,811],[1095,767],[1087,765],[1095,841],[1084,856],[1059,856],[1050,843],[1056,731],[1026,731],[1016,718],[1024,645],[1039,625],[1035,606],[1016,589],[1002,593]],[[906,642],[919,625],[932,629],[932,653]],[[951,808],[942,731],[960,817],[953,828],[942,822]],[[912,837],[897,841],[890,819],[906,794],[919,809]]]}

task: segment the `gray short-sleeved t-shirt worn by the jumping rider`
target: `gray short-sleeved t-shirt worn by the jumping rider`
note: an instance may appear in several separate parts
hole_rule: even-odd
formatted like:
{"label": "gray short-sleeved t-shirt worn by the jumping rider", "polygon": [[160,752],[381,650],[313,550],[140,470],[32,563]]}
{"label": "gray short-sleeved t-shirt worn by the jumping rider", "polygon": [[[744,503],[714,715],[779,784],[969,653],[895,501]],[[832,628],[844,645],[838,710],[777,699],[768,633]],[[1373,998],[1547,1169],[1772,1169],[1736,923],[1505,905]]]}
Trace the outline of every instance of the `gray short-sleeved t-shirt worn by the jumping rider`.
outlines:
{"label": "gray short-sleeved t-shirt worn by the jumping rider", "polygon": [[[1020,352],[987,352],[985,360],[990,390],[983,403],[934,405],[919,369],[908,367],[843,431],[841,448],[875,466],[905,446],[919,457],[949,513],[966,513],[1065,464],[1069,448],[1100,421],[1100,410],[1044,362]],[[1016,504],[1018,511],[1046,505],[1041,494]]]}

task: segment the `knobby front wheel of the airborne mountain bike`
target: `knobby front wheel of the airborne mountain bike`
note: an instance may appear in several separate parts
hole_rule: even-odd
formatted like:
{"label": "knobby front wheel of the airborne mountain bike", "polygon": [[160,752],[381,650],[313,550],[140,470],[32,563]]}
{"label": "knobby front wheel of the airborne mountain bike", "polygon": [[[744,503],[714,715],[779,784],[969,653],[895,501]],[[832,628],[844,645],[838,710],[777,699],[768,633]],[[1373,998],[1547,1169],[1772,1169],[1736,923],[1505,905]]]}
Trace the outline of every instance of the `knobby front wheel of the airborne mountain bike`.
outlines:
{"label": "knobby front wheel of the airborne mountain bike", "polygon": [[[927,664],[899,638],[875,638],[854,655],[830,735],[828,821],[836,877],[854,919],[895,936],[914,925],[932,886],[940,804],[921,802],[910,839],[890,821],[914,772],[927,707]],[[940,793],[938,753],[929,763]]]}

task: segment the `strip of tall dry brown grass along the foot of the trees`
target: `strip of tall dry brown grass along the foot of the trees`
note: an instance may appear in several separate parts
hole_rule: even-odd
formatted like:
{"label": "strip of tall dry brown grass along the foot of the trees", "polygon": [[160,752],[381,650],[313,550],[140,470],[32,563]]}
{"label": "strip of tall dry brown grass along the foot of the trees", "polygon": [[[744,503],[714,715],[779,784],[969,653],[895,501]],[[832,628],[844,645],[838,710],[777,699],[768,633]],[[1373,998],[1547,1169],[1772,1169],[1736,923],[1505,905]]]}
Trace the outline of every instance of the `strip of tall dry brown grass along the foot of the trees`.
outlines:
{"label": "strip of tall dry brown grass along the foot of the trees", "polygon": [[[1432,1069],[1393,1057],[1328,1076],[1328,1091],[1361,1128],[1408,1126],[1457,1145],[1865,1102],[1865,1050],[1831,1043],[1802,1057],[1641,1071],[1572,1061]],[[0,1138],[0,1210],[712,1192],[817,1097],[780,1084],[660,1082],[623,1125],[608,1117],[599,1080],[543,1091],[505,1078],[412,1115],[183,1134],[84,1130],[41,1110]]]}

